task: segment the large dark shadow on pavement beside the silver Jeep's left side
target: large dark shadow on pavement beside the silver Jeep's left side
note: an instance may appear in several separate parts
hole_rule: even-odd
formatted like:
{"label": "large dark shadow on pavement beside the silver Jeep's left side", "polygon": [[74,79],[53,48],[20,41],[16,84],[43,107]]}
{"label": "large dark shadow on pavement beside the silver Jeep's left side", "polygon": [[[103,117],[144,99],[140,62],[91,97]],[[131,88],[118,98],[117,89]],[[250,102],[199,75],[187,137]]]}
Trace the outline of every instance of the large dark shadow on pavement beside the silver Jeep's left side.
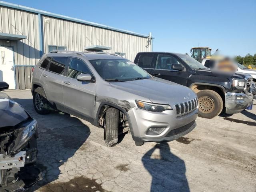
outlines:
{"label": "large dark shadow on pavement beside the silver Jeep's left side", "polygon": [[[63,112],[37,114],[32,99],[14,98],[14,100],[21,104],[38,123],[36,164],[43,171],[44,178],[28,190],[32,192],[61,177],[68,159],[84,145],[90,135],[90,129],[79,118]],[[73,163],[71,164],[73,166]]]}

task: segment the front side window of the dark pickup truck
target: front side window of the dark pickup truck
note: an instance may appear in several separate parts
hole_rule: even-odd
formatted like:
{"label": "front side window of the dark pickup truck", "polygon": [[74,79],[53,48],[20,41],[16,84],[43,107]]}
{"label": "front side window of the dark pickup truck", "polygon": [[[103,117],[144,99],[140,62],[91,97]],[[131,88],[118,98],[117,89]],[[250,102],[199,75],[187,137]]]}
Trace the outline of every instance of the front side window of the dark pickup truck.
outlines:
{"label": "front side window of the dark pickup truck", "polygon": [[174,56],[158,54],[156,69],[172,70],[172,64],[180,64],[180,62]]}

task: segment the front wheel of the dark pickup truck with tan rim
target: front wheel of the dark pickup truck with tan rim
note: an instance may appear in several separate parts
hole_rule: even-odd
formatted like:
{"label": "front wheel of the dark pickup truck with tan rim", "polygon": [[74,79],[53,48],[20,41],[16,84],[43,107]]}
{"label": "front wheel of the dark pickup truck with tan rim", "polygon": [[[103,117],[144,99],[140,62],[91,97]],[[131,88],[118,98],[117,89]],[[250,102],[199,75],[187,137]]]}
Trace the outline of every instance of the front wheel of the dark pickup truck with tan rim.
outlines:
{"label": "front wheel of the dark pickup truck with tan rim", "polygon": [[221,96],[213,90],[202,90],[197,93],[198,97],[198,116],[203,118],[214,118],[223,109]]}

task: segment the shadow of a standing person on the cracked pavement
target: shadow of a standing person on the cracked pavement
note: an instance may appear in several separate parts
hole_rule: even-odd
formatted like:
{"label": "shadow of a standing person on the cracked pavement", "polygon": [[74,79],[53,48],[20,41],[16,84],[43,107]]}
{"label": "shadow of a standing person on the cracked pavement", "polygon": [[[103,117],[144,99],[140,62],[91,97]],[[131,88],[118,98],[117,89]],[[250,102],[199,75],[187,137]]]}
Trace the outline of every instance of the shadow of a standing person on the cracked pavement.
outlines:
{"label": "shadow of a standing person on the cracked pavement", "polygon": [[[156,149],[160,150],[160,155],[154,154]],[[185,163],[172,154],[168,143],[156,144],[142,157],[142,162],[152,176],[151,192],[190,191]]]}

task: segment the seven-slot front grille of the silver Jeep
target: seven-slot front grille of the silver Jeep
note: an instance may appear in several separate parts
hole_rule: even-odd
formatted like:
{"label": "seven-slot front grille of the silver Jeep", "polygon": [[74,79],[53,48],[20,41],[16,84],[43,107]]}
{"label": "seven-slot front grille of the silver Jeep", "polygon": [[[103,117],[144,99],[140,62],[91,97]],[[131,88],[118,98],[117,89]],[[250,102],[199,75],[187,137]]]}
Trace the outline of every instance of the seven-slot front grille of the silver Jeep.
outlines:
{"label": "seven-slot front grille of the silver Jeep", "polygon": [[176,115],[183,115],[194,110],[198,105],[198,99],[194,98],[190,101],[175,104]]}

